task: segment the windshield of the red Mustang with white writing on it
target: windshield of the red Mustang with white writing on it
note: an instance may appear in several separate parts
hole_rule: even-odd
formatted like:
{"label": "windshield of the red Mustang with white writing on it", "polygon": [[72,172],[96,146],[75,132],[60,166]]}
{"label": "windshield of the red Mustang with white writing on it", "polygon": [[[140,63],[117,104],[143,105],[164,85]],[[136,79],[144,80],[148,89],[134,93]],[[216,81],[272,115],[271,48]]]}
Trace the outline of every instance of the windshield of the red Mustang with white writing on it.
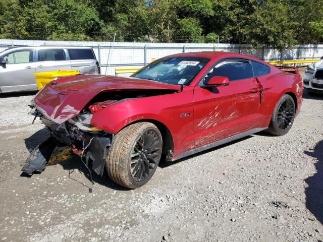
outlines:
{"label": "windshield of the red Mustang with white writing on it", "polygon": [[209,60],[208,58],[188,56],[161,58],[134,73],[131,77],[169,84],[189,85]]}

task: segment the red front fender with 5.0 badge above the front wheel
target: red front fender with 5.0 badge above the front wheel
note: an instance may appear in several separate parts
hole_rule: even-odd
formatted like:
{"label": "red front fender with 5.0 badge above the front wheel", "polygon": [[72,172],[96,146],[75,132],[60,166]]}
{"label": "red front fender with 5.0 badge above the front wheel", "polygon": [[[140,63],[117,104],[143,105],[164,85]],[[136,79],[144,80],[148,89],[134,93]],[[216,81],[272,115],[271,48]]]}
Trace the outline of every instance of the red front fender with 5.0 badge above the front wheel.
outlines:
{"label": "red front fender with 5.0 badge above the front wheel", "polygon": [[194,146],[192,98],[193,88],[187,87],[179,93],[125,100],[93,113],[90,124],[117,134],[133,122],[155,120],[170,131],[176,157]]}

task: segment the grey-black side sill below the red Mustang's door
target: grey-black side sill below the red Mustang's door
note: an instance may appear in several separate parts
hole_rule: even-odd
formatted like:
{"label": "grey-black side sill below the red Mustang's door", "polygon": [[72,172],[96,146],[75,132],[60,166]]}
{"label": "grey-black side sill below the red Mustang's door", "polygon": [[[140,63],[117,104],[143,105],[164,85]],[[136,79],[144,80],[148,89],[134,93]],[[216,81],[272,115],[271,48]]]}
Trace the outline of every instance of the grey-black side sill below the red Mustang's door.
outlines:
{"label": "grey-black side sill below the red Mustang's door", "polygon": [[176,157],[172,161],[179,160],[179,159],[181,159],[183,157],[193,155],[193,154],[202,152],[204,150],[208,150],[208,149],[211,149],[211,148],[214,148],[214,147],[217,147],[217,146],[220,146],[220,145],[223,145],[223,144],[235,141],[235,140],[239,140],[241,138],[247,137],[249,135],[258,133],[258,132],[266,130],[266,129],[267,129],[267,127],[266,128],[256,128],[256,129],[248,130],[248,131],[245,131],[243,133],[240,133],[240,134],[225,138],[223,140],[219,140],[219,141],[216,141],[216,142],[213,142],[213,143],[210,143],[210,144],[207,144],[207,145],[203,145],[201,147],[198,147],[198,148],[195,148],[195,149],[192,149],[192,150],[185,151],[184,153],[180,154],[178,157]]}

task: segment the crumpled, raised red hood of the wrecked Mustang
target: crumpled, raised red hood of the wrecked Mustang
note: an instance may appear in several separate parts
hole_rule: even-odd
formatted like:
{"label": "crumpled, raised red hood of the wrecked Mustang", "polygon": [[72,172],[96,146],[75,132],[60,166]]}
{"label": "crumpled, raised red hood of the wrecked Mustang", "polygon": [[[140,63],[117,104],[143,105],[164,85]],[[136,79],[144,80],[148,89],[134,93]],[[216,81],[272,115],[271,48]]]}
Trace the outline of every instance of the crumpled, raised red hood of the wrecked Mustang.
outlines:
{"label": "crumpled, raised red hood of the wrecked Mustang", "polygon": [[53,80],[33,98],[32,104],[52,122],[75,117],[100,92],[122,90],[175,90],[181,86],[146,79],[104,75],[78,75]]}

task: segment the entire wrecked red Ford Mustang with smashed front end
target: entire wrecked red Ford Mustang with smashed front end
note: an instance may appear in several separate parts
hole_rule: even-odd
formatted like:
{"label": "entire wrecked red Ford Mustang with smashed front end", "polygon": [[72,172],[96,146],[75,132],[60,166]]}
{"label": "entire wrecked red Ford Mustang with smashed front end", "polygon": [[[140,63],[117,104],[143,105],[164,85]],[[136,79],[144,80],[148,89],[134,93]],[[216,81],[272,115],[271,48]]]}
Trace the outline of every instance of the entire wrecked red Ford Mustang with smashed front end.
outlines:
{"label": "entire wrecked red Ford Mustang with smashed front end", "polygon": [[229,52],[157,59],[129,78],[80,75],[51,81],[32,100],[51,133],[22,169],[42,171],[56,146],[138,188],[160,159],[182,157],[267,130],[292,127],[302,104],[296,68]]}

